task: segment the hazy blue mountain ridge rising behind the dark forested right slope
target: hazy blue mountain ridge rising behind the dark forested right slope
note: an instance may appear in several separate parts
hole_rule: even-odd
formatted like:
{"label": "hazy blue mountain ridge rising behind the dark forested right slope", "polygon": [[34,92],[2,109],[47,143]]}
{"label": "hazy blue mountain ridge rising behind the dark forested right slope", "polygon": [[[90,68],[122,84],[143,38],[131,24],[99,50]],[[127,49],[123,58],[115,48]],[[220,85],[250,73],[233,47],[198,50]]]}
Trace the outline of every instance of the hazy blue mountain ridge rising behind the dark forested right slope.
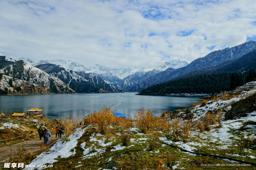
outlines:
{"label": "hazy blue mountain ridge rising behind the dark forested right slope", "polygon": [[198,58],[192,61],[185,67],[175,70],[166,69],[163,72],[159,72],[153,76],[149,76],[146,79],[138,82],[134,87],[130,89],[130,91],[139,91],[148,86],[175,79],[176,77],[184,75],[191,71],[196,71],[211,66],[217,66],[225,61],[240,58],[254,49],[256,49],[256,42],[249,41],[232,48],[225,48],[222,50],[213,51],[205,57]]}

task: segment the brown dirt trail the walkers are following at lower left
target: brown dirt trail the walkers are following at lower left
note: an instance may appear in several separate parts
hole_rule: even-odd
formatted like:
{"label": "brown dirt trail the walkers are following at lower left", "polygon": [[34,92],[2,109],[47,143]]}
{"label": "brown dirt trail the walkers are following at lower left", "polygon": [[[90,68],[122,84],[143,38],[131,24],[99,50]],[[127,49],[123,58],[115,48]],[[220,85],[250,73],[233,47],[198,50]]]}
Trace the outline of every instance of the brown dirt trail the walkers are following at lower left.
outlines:
{"label": "brown dirt trail the walkers are following at lower left", "polygon": [[[52,143],[52,141],[55,139],[56,138],[55,138],[55,134],[54,134],[51,136],[49,143]],[[57,139],[58,139],[58,137],[57,137]],[[11,152],[11,149],[12,149],[13,156],[16,156],[15,152],[17,151],[17,148],[24,146],[24,148],[26,148],[28,151],[37,150],[37,149],[40,149],[40,143],[43,141],[44,141],[43,138],[42,138],[42,140],[40,140],[39,138],[35,138],[35,139],[27,140],[24,142],[16,143],[14,145],[1,147],[0,151],[8,153],[8,151]],[[2,165],[3,163],[6,163],[6,162],[2,162],[2,161],[6,160],[8,158],[9,158],[8,155],[6,155],[4,153],[0,153],[0,162],[1,162],[0,165]],[[8,160],[7,160],[7,163],[8,163]]]}

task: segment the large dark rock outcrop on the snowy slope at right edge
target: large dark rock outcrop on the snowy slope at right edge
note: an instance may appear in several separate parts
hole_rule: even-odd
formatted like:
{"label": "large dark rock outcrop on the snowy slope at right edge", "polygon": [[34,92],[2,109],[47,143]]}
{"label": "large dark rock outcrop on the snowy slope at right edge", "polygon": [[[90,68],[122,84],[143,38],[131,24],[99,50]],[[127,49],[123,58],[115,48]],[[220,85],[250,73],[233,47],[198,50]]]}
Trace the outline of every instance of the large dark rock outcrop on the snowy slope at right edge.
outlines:
{"label": "large dark rock outcrop on the snowy slope at right edge", "polygon": [[234,117],[244,117],[247,116],[246,113],[256,111],[256,93],[245,99],[241,99],[233,104],[231,104],[231,109],[226,112],[225,120],[234,119]]}

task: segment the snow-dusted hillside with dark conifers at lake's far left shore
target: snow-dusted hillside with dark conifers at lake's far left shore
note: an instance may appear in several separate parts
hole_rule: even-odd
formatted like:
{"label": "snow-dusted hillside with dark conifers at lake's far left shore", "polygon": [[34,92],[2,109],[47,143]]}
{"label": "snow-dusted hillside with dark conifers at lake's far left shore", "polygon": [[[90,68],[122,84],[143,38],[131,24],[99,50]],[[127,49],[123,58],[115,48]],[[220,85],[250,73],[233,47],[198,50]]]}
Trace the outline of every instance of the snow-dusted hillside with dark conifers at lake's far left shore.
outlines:
{"label": "snow-dusted hillside with dark conifers at lake's far left shore", "polygon": [[[0,60],[1,89],[7,94],[49,94],[49,93],[75,93],[66,83],[46,72],[23,62]],[[6,89],[5,89],[6,88]]]}

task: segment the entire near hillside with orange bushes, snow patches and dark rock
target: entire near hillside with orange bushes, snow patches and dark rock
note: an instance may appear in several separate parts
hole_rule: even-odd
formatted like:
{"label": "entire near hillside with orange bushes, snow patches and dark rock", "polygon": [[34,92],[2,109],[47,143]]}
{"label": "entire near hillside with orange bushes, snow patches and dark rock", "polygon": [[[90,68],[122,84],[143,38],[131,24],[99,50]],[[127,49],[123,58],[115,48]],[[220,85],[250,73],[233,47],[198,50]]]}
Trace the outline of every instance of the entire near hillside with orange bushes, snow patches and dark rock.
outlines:
{"label": "entire near hillside with orange bushes, snow patches and dark rock", "polygon": [[[216,169],[220,164],[217,168],[223,170],[234,166],[255,169],[255,92],[255,86],[238,87],[193,107],[166,111],[162,117],[142,108],[135,113],[135,120],[119,119],[111,108],[104,107],[86,116],[85,121],[90,122],[87,127],[75,129],[68,139],[57,141],[30,165],[53,165],[45,169],[192,170]],[[247,106],[251,107],[244,110]]]}

